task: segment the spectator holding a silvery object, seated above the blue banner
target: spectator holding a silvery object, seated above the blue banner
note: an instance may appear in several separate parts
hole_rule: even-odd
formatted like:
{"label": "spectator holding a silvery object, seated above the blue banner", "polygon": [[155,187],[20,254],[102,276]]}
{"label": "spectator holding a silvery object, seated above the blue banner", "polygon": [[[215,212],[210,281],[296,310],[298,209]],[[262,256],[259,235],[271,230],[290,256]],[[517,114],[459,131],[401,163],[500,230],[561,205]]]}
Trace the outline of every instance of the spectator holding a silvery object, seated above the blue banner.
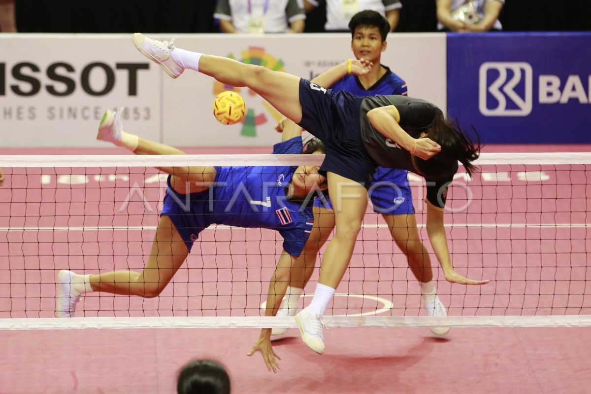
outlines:
{"label": "spectator holding a silvery object, seated above the blue banner", "polygon": [[499,31],[505,0],[436,0],[437,30],[465,32]]}

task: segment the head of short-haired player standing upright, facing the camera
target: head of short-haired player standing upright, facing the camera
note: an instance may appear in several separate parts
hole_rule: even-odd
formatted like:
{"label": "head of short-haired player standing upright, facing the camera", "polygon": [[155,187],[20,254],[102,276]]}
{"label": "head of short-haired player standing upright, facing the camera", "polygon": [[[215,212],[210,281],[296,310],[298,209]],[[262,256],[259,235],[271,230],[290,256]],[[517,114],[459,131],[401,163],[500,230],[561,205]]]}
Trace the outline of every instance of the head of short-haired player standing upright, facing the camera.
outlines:
{"label": "head of short-haired player standing upright, facing the camera", "polygon": [[349,21],[351,50],[356,59],[365,59],[379,64],[386,50],[386,37],[390,31],[388,20],[379,12],[366,9],[353,15]]}

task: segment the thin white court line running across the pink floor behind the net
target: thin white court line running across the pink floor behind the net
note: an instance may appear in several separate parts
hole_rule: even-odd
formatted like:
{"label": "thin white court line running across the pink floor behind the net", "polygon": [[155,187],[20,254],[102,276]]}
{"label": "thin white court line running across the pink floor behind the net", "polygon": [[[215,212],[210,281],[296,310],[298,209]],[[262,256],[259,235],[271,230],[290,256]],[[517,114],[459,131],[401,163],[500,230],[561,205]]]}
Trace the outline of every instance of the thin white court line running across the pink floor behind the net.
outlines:
{"label": "thin white court line running across the pink floor behind the net", "polygon": [[[387,224],[364,224],[363,228],[387,228]],[[424,224],[418,224],[417,227],[426,227]],[[446,224],[448,228],[587,228],[591,224],[571,223],[571,224],[528,224],[528,223],[468,223],[468,224]],[[227,226],[223,224],[212,224],[205,230],[232,230],[233,228],[244,228]],[[0,227],[0,231],[127,231],[127,230],[156,230],[156,226],[128,227],[128,226],[84,226],[84,227]]]}

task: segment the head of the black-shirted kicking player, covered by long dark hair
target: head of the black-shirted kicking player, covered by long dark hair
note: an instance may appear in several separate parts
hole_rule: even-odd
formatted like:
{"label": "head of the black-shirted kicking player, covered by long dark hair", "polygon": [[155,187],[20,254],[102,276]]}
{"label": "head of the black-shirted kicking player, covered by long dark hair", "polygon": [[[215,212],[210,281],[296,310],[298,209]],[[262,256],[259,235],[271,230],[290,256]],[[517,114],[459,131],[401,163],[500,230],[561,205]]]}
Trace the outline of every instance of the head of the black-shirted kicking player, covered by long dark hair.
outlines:
{"label": "head of the black-shirted kicking player, covered by long dark hair", "polygon": [[457,162],[463,164],[468,175],[476,171],[472,162],[478,159],[480,138],[476,130],[476,143],[462,131],[457,121],[448,121],[441,114],[433,124],[421,134],[441,146],[441,151],[428,160],[413,156],[413,164],[418,172],[429,180],[449,179],[457,172]]}

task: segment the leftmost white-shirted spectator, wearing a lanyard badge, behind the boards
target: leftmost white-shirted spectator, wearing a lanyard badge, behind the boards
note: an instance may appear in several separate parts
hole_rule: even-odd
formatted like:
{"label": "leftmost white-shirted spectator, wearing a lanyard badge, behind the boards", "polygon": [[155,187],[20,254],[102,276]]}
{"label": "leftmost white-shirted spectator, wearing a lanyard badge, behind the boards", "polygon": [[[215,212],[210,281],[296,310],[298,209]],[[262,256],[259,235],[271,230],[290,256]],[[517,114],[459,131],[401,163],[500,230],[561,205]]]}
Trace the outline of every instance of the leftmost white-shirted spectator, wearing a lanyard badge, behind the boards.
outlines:
{"label": "leftmost white-shirted spectator, wearing a lanyard badge, behind the boards", "polygon": [[302,0],[219,0],[213,17],[223,33],[303,33],[306,12]]}

